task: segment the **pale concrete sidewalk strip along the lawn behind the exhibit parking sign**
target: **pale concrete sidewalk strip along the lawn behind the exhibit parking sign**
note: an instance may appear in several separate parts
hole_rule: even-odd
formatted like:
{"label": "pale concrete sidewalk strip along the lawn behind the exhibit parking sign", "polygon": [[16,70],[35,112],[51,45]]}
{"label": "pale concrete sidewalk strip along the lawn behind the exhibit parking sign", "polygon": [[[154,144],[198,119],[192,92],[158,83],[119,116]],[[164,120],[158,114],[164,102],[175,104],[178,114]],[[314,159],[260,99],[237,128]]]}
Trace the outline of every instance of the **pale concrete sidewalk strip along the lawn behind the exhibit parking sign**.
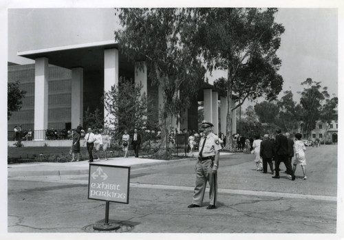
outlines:
{"label": "pale concrete sidewalk strip along the lawn behind the exhibit parking sign", "polygon": [[[233,153],[221,153],[228,155]],[[112,166],[131,166],[131,168],[142,168],[156,164],[173,164],[175,162],[195,161],[197,153],[188,154],[188,158],[178,160],[153,160],[140,157],[114,157],[107,161],[100,159],[94,161],[94,164],[105,164]],[[89,173],[89,162],[87,160],[80,162],[32,162],[28,164],[8,164],[8,177],[26,177],[39,175],[81,175]]]}

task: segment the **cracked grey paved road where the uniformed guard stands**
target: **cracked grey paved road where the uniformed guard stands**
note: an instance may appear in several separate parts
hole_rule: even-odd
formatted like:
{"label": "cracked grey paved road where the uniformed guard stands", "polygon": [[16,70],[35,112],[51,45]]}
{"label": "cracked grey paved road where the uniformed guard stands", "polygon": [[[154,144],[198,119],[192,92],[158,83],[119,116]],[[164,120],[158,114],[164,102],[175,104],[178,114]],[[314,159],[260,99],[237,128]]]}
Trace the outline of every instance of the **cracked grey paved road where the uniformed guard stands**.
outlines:
{"label": "cracked grey paved road where the uniformed guard stands", "polygon": [[[129,204],[110,204],[122,232],[336,233],[337,146],[309,148],[308,179],[255,171],[250,154],[224,155],[218,208],[191,203],[195,162],[131,171]],[[282,167],[285,169],[284,167]],[[87,199],[87,175],[8,179],[8,232],[92,232],[103,201]]]}

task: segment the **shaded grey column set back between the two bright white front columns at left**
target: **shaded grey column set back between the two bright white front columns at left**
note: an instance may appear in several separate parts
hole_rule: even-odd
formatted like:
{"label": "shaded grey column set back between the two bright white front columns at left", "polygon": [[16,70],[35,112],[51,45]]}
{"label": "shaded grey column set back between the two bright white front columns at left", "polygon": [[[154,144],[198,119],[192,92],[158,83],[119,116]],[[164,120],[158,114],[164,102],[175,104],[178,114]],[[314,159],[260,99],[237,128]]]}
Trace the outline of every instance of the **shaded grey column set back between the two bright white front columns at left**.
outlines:
{"label": "shaded grey column set back between the two bright white front columns at left", "polygon": [[83,126],[83,81],[82,67],[72,68],[72,129]]}

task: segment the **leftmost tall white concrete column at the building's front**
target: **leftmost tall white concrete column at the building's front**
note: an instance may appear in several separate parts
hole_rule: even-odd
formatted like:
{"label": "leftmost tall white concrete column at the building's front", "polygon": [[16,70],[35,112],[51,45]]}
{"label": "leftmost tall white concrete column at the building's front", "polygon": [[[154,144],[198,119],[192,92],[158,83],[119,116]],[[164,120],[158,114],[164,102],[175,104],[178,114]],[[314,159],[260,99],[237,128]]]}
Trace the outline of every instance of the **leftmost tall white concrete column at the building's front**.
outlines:
{"label": "leftmost tall white concrete column at the building's front", "polygon": [[34,65],[34,140],[45,140],[47,129],[48,58],[36,58]]}

